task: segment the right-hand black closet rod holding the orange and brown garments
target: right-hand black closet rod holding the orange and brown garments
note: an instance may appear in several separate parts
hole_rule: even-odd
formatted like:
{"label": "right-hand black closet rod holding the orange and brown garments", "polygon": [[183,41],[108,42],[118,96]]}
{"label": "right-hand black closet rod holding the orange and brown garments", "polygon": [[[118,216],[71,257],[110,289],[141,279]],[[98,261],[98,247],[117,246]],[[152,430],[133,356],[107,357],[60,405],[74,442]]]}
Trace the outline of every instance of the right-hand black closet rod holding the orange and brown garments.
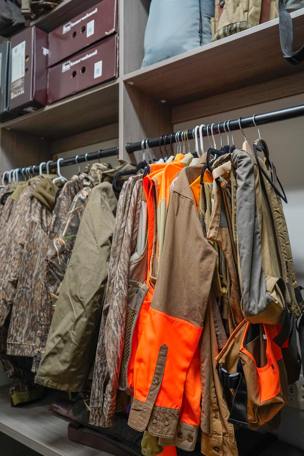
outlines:
{"label": "right-hand black closet rod holding the orange and brown garments", "polygon": [[[300,104],[299,106],[293,106],[291,108],[285,109],[278,109],[278,111],[271,111],[264,114],[256,114],[254,115],[254,122],[257,126],[271,124],[273,122],[279,122],[281,120],[287,119],[295,119],[296,117],[304,116],[304,104]],[[242,117],[240,118],[241,127],[242,128],[250,128],[254,127],[253,116],[251,117]],[[203,136],[207,136],[207,128],[209,127],[209,135],[211,135],[211,125],[207,125],[207,127],[203,127],[202,133]],[[227,133],[228,128],[230,131],[240,130],[239,120],[229,120],[229,124],[227,125],[227,121],[225,121],[225,128],[224,129],[224,122],[220,124],[214,123],[213,126],[213,134],[218,135],[219,133]],[[199,131],[197,132],[199,137]],[[194,139],[193,136],[193,129],[186,130],[185,135],[188,137],[189,140]],[[132,154],[136,150],[142,150],[142,144],[144,149],[147,149],[147,144],[149,147],[159,147],[160,145],[170,145],[170,143],[176,143],[175,140],[175,133],[170,133],[168,135],[158,136],[157,138],[150,138],[148,140],[144,140],[144,142],[135,142],[135,143],[127,143],[126,144],[126,151],[128,154]]]}

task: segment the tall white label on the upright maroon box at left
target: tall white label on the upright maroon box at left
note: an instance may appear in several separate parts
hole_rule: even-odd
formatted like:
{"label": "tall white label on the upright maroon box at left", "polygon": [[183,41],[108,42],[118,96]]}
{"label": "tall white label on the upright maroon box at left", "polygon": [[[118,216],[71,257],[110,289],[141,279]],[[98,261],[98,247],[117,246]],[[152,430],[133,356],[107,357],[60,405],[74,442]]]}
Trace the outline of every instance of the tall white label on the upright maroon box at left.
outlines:
{"label": "tall white label on the upright maroon box at left", "polygon": [[26,41],[22,41],[11,50],[11,82],[10,98],[24,93],[24,77],[26,74]]}

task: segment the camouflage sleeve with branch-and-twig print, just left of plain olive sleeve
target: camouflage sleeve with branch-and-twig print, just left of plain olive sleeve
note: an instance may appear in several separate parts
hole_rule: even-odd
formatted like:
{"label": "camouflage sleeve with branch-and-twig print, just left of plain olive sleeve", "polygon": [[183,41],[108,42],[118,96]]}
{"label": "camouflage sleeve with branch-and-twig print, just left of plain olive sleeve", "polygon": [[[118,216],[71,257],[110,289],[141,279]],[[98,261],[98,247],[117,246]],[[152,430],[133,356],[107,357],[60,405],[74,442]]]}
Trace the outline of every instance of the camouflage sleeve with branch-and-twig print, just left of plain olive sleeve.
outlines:
{"label": "camouflage sleeve with branch-and-twig print, just left of plain olive sleeve", "polygon": [[48,237],[48,250],[41,283],[41,301],[36,321],[36,337],[32,372],[37,372],[44,355],[46,339],[61,283],[77,236],[79,223],[89,192],[102,179],[108,169],[105,164],[94,163],[89,174],[72,176],[57,199]]}

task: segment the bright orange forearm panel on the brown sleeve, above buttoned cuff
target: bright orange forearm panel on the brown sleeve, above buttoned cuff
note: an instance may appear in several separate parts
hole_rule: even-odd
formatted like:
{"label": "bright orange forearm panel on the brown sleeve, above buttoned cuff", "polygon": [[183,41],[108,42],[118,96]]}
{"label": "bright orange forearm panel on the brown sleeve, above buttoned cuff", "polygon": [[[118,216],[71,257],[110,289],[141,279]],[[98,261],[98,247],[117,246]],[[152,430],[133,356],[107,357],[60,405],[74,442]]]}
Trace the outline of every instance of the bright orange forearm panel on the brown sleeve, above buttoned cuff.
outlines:
{"label": "bright orange forearm panel on the brown sleeve, above buttoned cuff", "polygon": [[147,399],[153,380],[160,346],[166,344],[168,355],[155,405],[180,409],[187,370],[196,351],[202,328],[149,308],[134,360],[134,397]]}

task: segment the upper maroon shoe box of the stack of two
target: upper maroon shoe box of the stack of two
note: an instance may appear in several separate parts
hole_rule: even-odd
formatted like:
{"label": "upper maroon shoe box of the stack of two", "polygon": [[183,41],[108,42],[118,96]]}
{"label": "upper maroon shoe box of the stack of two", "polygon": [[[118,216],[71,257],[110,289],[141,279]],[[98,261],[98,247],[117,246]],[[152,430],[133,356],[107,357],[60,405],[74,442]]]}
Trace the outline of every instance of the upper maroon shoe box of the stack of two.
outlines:
{"label": "upper maroon shoe box of the stack of two", "polygon": [[118,32],[118,0],[103,0],[49,34],[48,66]]}

